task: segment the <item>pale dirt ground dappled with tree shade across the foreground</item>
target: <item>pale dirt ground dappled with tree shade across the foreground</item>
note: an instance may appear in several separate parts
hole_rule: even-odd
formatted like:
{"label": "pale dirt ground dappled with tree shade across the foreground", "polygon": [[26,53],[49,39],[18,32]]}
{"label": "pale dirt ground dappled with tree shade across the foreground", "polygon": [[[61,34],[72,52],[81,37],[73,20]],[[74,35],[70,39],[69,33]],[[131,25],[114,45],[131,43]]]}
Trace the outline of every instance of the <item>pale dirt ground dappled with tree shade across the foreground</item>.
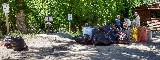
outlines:
{"label": "pale dirt ground dappled with tree shade across the foreground", "polygon": [[61,34],[26,35],[24,39],[29,51],[17,52],[1,46],[0,60],[160,60],[160,40],[129,45],[86,46]]}

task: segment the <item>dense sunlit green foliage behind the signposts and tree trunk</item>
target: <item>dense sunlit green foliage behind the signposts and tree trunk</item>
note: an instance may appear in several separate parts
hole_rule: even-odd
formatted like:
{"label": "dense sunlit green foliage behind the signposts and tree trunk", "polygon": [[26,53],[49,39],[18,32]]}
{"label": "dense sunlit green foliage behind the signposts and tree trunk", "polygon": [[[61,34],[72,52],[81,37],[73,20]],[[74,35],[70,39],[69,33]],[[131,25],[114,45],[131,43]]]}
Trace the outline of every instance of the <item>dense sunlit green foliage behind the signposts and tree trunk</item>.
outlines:
{"label": "dense sunlit green foliage behind the signposts and tree trunk", "polygon": [[[25,10],[28,30],[36,33],[45,28],[45,16],[53,17],[53,31],[68,31],[68,14],[73,14],[71,29],[73,33],[81,32],[87,21],[92,26],[101,26],[114,22],[116,15],[122,19],[133,15],[133,8],[153,3],[158,0],[0,0],[0,30],[5,33],[5,16],[2,11],[2,3],[10,4],[9,22],[10,30],[16,28],[15,14],[19,10]],[[22,4],[22,6],[20,6]]]}

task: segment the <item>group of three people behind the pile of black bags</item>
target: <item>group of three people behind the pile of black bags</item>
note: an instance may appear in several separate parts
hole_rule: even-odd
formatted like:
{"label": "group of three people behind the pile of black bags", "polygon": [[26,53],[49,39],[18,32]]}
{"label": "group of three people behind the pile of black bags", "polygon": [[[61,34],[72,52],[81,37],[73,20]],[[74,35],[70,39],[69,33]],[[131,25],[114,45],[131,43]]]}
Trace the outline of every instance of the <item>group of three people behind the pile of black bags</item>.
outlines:
{"label": "group of three people behind the pile of black bags", "polygon": [[134,13],[135,19],[131,22],[130,19],[125,18],[124,22],[120,20],[120,15],[117,15],[117,18],[115,19],[115,25],[116,28],[119,30],[128,29],[131,26],[134,27],[140,27],[140,16],[137,12]]}

